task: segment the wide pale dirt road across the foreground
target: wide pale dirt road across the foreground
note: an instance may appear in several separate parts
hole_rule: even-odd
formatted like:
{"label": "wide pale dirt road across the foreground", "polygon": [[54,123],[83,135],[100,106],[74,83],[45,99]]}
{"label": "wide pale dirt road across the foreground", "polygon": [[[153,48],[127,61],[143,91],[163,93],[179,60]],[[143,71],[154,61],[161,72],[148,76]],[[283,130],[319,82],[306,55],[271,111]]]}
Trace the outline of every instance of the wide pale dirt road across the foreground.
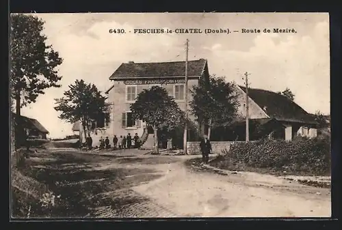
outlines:
{"label": "wide pale dirt road across the foreground", "polygon": [[50,180],[36,177],[67,199],[66,216],[330,216],[327,188],[257,173],[194,171],[185,167],[185,161],[198,156],[134,151],[99,156],[54,150],[49,157],[30,160],[42,175],[49,173]]}

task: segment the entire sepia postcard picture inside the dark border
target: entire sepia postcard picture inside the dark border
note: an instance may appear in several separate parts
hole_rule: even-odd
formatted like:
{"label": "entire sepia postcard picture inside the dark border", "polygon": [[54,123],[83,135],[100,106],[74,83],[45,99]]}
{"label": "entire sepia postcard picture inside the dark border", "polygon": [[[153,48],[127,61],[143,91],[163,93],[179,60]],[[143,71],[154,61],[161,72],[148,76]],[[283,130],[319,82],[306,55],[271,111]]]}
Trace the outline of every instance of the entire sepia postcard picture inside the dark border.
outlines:
{"label": "entire sepia postcard picture inside the dark border", "polygon": [[9,23],[11,218],[331,216],[328,13]]}

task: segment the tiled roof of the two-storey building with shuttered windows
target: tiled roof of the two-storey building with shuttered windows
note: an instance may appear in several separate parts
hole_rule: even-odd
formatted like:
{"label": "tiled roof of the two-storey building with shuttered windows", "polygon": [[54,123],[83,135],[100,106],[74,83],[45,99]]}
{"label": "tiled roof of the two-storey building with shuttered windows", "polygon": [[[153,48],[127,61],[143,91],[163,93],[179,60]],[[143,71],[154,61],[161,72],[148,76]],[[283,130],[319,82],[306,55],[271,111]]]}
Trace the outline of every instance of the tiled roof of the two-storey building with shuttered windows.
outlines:
{"label": "tiled roof of the two-storey building with shuttered windows", "polygon": [[[188,61],[188,76],[202,76],[206,59]],[[139,77],[168,77],[185,76],[185,61],[153,62],[153,63],[122,63],[121,66],[109,77],[110,80],[120,78]]]}

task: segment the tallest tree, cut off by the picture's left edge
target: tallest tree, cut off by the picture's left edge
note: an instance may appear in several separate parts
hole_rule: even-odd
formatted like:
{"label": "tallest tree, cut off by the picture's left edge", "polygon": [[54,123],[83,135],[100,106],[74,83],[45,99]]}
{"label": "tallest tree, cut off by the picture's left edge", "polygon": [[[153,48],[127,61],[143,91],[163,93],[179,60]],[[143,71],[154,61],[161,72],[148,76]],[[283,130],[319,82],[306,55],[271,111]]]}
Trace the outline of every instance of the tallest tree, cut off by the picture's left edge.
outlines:
{"label": "tallest tree, cut off by the picture's left edge", "polygon": [[[62,58],[47,45],[42,34],[44,22],[32,15],[10,16],[10,96],[16,104],[16,114],[28,103],[36,102],[44,89],[60,87],[62,79],[55,68]],[[12,102],[11,102],[12,103]],[[16,122],[16,144],[23,143],[23,126]]]}

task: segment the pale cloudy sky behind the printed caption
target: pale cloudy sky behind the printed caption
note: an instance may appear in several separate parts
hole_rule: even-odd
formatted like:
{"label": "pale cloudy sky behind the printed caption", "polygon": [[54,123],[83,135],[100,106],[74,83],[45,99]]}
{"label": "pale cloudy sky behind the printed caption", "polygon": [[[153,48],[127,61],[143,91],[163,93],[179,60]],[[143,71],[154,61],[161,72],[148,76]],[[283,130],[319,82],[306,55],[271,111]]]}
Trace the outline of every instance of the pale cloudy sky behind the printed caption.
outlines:
{"label": "pale cloudy sky behind the printed caption", "polygon": [[[308,113],[330,113],[330,47],[327,13],[106,13],[34,14],[44,20],[47,43],[64,59],[58,67],[60,88],[38,96],[22,115],[38,119],[52,138],[72,134],[58,119],[54,98],[61,98],[76,79],[105,91],[109,76],[128,61],[208,60],[209,73],[250,87],[282,91],[289,87],[295,102]],[[237,33],[136,34],[134,29],[229,29]],[[295,29],[296,33],[241,33],[241,29]],[[109,33],[124,29],[127,33]],[[131,33],[129,33],[131,31]]]}

